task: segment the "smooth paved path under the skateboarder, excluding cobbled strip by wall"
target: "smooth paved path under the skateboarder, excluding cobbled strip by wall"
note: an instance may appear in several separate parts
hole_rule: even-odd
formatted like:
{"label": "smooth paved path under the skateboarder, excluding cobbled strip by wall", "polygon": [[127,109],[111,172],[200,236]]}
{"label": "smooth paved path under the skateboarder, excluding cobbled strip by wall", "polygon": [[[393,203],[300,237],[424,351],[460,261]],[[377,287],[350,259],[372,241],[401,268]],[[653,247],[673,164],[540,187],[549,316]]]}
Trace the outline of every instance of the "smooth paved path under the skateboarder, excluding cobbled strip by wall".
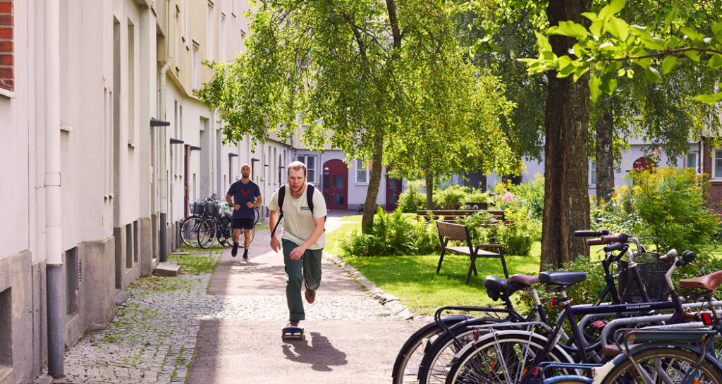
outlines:
{"label": "smooth paved path under the skateboarder, excluding cobbled strip by wall", "polygon": [[[328,232],[339,227],[329,217]],[[250,261],[222,254],[208,294],[223,297],[222,311],[200,321],[187,383],[388,383],[396,354],[419,326],[393,318],[330,261],[316,302],[305,303],[306,339],[281,340],[287,323],[283,256],[259,231]]]}

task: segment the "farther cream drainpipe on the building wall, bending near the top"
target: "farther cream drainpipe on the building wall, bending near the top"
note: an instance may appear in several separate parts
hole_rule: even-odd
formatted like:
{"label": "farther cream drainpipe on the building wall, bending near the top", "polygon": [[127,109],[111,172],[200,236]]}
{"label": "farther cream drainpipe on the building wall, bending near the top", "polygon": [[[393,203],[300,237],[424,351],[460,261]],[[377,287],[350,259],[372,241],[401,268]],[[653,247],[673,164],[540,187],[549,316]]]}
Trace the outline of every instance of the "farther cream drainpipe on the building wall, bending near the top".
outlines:
{"label": "farther cream drainpipe on the building wall, bending near the top", "polygon": [[[170,66],[173,64],[173,48],[175,47],[175,28],[173,23],[173,17],[171,16],[173,13],[175,13],[175,0],[168,0],[168,12],[165,12],[165,16],[168,19],[168,22],[166,22],[166,38],[165,38],[165,45],[166,49],[168,51],[168,57],[165,60],[165,64],[160,69],[160,72],[158,73],[158,79],[160,79],[160,82],[158,84],[158,116],[162,118],[165,121],[168,121],[168,118],[165,115],[165,92],[167,90],[166,88],[166,72],[168,69],[170,69]],[[158,169],[158,188],[160,188],[160,235],[159,235],[159,250],[160,250],[160,261],[165,261],[166,256],[168,256],[168,248],[167,248],[167,239],[168,239],[168,178],[166,176],[166,159],[165,159],[165,145],[166,139],[165,139],[165,126],[160,128],[160,139],[158,140],[158,144],[160,148],[158,149],[160,152],[160,165]]]}

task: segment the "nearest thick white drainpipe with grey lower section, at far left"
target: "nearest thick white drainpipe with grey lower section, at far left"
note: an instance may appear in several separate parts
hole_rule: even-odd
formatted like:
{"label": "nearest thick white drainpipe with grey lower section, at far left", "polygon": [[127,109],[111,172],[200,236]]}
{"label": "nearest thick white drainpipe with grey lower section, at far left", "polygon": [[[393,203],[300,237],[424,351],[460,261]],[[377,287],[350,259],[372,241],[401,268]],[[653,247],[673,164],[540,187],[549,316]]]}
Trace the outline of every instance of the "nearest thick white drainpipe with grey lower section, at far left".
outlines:
{"label": "nearest thick white drainpipe with grey lower section, at far left", "polygon": [[45,1],[45,269],[48,305],[48,373],[64,375],[65,284],[61,231],[60,6]]}

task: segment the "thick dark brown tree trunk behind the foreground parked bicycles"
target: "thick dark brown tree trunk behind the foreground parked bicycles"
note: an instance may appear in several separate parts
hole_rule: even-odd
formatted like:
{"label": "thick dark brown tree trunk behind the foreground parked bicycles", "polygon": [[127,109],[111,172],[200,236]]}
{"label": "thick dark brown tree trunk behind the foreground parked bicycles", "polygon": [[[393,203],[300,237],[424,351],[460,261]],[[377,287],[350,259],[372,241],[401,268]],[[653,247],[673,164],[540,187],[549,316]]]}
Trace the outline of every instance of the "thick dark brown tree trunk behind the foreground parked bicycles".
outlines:
{"label": "thick dark brown tree trunk behind the foreground parked bicycles", "polygon": [[[582,12],[588,12],[591,0],[549,0],[549,25],[572,20],[586,25]],[[576,40],[552,35],[549,43],[559,56],[568,53]],[[544,221],[541,230],[541,269],[587,255],[582,237],[575,230],[589,227],[588,195],[588,75],[573,82],[571,77],[557,78],[547,72],[549,92],[545,110],[544,144]]]}

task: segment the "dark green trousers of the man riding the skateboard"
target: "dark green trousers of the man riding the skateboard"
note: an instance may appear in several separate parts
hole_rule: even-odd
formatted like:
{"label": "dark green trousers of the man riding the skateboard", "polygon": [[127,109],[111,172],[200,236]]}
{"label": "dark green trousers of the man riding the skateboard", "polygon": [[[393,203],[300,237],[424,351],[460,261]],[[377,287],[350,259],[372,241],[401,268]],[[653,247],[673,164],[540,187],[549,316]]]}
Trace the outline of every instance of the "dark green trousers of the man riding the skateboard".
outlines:
{"label": "dark green trousers of the man riding the skateboard", "polygon": [[323,249],[307,249],[301,258],[291,260],[291,250],[298,245],[291,240],[282,240],[282,243],[283,261],[286,266],[286,274],[288,275],[286,300],[290,312],[289,320],[305,320],[306,314],[303,312],[303,294],[301,294],[303,281],[305,280],[308,288],[314,291],[318,289],[318,286],[321,284],[321,255],[323,254]]}

